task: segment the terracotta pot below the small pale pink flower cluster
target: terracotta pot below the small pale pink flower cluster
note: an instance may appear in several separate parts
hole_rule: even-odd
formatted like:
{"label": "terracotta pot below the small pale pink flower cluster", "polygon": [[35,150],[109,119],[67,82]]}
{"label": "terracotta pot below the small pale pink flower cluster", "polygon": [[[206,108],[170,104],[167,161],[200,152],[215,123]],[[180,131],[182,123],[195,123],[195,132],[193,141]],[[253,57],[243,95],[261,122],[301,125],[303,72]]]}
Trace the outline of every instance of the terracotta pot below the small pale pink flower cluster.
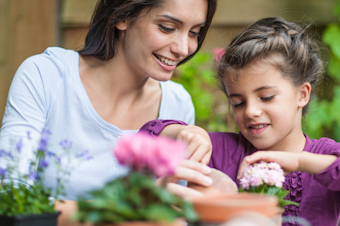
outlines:
{"label": "terracotta pot below the small pale pink flower cluster", "polygon": [[206,195],[192,200],[201,221],[225,222],[241,212],[255,212],[268,218],[277,216],[278,200],[259,194]]}

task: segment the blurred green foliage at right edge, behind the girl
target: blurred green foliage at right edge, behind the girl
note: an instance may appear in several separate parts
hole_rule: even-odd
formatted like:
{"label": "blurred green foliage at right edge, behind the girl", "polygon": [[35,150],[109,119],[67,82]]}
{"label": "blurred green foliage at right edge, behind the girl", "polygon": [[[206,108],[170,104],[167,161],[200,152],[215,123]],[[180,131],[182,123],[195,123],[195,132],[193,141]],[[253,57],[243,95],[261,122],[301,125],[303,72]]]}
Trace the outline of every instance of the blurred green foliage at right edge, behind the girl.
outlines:
{"label": "blurred green foliage at right edge, behind the girl", "polygon": [[332,96],[311,102],[303,129],[311,138],[325,136],[340,142],[340,0],[337,0],[334,13],[339,17],[339,22],[329,24],[322,37],[323,43],[330,51],[327,76],[330,76],[334,83],[330,90]]}

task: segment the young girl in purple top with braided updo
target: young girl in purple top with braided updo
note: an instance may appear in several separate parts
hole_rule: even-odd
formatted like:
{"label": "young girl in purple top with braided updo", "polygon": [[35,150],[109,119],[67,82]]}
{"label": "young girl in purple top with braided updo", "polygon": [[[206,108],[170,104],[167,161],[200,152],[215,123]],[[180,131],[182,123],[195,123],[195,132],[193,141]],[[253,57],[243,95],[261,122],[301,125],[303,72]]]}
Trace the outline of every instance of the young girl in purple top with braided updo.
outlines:
{"label": "young girl in purple top with braided updo", "polygon": [[[226,49],[218,78],[240,133],[209,134],[209,166],[237,182],[249,164],[277,162],[286,173],[287,199],[300,204],[286,206],[283,216],[302,217],[311,225],[337,225],[340,144],[328,138],[312,140],[301,128],[321,68],[305,28],[282,18],[260,20],[239,34]],[[181,122],[158,120],[142,130],[158,134],[176,123]],[[194,136],[207,137],[202,129],[185,125],[167,126],[161,134],[189,140],[189,145]]]}

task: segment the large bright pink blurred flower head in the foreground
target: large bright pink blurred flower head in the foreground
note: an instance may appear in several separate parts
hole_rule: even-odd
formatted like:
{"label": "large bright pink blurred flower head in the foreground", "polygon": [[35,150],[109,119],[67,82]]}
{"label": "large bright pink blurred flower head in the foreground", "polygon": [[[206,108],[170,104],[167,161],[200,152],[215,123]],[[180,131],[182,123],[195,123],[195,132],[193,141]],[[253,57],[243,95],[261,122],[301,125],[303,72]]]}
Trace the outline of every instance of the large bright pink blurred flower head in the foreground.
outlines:
{"label": "large bright pink blurred flower head in the foreground", "polygon": [[122,165],[133,170],[151,170],[156,176],[171,175],[185,158],[186,146],[165,137],[145,133],[120,138],[113,153]]}

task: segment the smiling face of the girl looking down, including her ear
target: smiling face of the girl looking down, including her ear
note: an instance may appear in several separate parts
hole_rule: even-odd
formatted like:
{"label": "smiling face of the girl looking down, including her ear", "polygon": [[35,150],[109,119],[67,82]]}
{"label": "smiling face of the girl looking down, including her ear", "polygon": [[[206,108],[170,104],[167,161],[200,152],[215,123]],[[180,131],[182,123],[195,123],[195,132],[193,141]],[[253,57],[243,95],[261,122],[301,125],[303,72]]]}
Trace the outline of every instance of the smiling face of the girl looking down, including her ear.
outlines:
{"label": "smiling face of the girl looking down, including her ear", "polygon": [[286,150],[301,143],[302,108],[310,85],[295,87],[276,67],[257,63],[232,76],[225,85],[235,121],[244,137],[258,150]]}

